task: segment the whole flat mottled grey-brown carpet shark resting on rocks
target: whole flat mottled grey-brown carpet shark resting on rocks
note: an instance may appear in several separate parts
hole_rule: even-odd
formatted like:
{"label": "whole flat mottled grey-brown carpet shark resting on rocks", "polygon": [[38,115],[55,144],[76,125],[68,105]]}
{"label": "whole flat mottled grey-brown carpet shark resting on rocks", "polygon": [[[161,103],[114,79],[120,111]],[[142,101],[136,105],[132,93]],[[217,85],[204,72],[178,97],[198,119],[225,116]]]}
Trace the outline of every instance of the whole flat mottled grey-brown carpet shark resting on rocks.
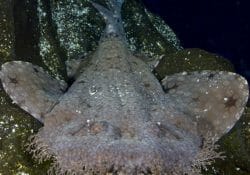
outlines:
{"label": "whole flat mottled grey-brown carpet shark resting on rocks", "polygon": [[235,73],[178,73],[159,82],[128,50],[122,0],[93,6],[106,29],[89,58],[75,61],[72,85],[22,61],[2,65],[14,103],[44,126],[29,151],[53,158],[51,174],[198,174],[214,144],[241,116],[246,80]]}

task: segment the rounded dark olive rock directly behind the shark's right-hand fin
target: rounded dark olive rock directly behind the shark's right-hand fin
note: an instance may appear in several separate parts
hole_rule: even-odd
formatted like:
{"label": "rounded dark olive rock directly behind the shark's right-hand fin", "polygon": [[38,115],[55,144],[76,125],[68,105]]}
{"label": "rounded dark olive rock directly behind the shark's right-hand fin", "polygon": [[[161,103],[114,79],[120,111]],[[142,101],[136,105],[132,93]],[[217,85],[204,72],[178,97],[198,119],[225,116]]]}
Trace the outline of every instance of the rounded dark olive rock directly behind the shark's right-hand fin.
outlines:
{"label": "rounded dark olive rock directly behind the shark's right-hand fin", "polygon": [[159,80],[166,75],[199,70],[221,70],[234,72],[233,65],[225,58],[202,49],[184,49],[164,55],[154,69]]}

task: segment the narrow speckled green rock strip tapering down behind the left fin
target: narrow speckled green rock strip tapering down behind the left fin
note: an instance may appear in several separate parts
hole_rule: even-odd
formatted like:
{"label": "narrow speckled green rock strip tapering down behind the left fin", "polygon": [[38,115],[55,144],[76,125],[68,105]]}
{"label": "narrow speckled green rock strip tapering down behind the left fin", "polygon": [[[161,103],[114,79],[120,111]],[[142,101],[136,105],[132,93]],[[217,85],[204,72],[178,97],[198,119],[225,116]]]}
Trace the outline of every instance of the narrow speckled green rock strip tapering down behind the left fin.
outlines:
{"label": "narrow speckled green rock strip tapering down behind the left fin", "polygon": [[37,13],[39,18],[38,42],[39,56],[43,66],[48,72],[58,78],[67,81],[65,61],[67,60],[66,51],[59,43],[57,27],[52,20],[51,5],[46,1],[38,0]]}

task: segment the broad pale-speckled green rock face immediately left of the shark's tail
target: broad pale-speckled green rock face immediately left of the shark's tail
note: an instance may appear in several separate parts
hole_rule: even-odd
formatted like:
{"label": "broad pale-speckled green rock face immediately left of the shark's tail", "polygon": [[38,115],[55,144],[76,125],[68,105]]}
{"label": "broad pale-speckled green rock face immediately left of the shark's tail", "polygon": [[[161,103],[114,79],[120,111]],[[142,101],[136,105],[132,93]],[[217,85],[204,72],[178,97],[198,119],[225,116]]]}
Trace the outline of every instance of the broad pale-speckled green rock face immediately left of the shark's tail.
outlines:
{"label": "broad pale-speckled green rock face immediately left of the shark's tail", "polygon": [[96,48],[105,22],[89,1],[52,1],[51,14],[66,59],[77,59]]}

